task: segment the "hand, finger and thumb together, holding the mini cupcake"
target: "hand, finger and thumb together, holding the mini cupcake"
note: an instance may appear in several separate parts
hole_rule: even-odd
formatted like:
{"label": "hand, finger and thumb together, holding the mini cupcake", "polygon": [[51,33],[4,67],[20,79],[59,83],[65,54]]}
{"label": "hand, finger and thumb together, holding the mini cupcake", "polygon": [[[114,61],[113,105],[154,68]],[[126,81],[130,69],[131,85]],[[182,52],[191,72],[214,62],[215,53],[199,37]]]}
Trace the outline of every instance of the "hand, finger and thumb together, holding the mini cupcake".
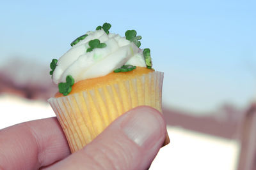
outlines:
{"label": "hand, finger and thumb together, holding the mini cupcake", "polygon": [[70,155],[56,118],[34,120],[0,130],[0,169],[147,169],[165,136],[161,113],[140,106]]}

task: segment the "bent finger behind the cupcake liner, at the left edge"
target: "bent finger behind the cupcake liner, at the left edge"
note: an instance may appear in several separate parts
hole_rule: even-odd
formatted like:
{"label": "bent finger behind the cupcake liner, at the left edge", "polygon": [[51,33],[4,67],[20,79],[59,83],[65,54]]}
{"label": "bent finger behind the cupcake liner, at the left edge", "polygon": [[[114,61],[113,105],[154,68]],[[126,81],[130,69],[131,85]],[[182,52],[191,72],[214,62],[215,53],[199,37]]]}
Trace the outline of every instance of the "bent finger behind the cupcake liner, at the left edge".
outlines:
{"label": "bent finger behind the cupcake liner, at the left edge", "polygon": [[57,118],[0,130],[0,169],[38,169],[70,154]]}

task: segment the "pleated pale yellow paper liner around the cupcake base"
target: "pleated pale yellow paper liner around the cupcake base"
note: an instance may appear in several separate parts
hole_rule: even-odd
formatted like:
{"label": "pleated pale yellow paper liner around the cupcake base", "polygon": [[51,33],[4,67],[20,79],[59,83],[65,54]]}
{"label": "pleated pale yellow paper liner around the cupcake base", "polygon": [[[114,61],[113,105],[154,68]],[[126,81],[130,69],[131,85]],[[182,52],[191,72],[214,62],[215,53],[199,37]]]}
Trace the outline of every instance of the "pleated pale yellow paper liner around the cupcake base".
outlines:
{"label": "pleated pale yellow paper liner around the cupcake base", "polygon": [[[154,71],[65,97],[49,99],[71,152],[83,148],[111,122],[137,106],[151,106],[162,112],[163,73]],[[165,143],[168,143],[166,136]]]}

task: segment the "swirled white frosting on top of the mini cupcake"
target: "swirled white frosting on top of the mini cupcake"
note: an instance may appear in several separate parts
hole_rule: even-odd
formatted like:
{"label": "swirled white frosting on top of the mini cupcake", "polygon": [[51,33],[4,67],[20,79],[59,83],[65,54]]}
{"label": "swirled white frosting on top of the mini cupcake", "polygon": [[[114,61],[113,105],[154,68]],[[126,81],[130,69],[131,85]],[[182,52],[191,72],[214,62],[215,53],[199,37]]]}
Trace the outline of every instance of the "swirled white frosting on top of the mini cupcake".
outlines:
{"label": "swirled white frosting on top of the mini cupcake", "polygon": [[[105,76],[125,64],[147,67],[143,51],[125,37],[106,34],[103,29],[86,34],[86,38],[72,46],[58,60],[52,74],[54,83],[65,82],[68,75],[71,75],[75,82]],[[86,52],[87,48],[90,48],[88,42],[92,39],[99,39],[100,43],[106,43],[106,47]]]}

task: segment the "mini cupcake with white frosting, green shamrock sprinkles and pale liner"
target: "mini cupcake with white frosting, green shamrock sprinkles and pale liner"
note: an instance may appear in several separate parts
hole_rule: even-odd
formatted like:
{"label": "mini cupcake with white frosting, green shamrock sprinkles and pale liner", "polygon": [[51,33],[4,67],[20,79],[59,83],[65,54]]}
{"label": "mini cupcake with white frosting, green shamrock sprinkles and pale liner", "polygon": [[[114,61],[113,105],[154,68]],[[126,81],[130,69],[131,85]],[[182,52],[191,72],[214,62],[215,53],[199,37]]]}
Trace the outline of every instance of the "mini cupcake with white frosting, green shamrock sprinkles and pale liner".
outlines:
{"label": "mini cupcake with white frosting, green shamrock sprinkles and pale liner", "polygon": [[[150,49],[140,48],[136,31],[122,37],[110,27],[105,23],[79,36],[51,62],[59,92],[48,101],[72,153],[132,108],[146,105],[162,112],[163,73],[152,69]],[[164,145],[168,142],[167,135]]]}

